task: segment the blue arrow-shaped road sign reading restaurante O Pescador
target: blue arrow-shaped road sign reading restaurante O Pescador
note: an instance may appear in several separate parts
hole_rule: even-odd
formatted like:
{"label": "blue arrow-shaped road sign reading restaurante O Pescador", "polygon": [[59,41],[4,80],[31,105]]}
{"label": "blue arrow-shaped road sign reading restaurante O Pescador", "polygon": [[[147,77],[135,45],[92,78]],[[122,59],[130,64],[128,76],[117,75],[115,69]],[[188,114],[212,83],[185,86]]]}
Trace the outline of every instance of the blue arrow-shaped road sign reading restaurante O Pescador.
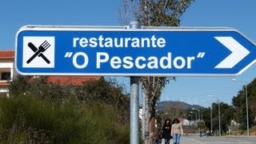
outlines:
{"label": "blue arrow-shaped road sign reading restaurante O Pescador", "polygon": [[232,28],[23,26],[15,50],[26,75],[234,76],[256,62]]}

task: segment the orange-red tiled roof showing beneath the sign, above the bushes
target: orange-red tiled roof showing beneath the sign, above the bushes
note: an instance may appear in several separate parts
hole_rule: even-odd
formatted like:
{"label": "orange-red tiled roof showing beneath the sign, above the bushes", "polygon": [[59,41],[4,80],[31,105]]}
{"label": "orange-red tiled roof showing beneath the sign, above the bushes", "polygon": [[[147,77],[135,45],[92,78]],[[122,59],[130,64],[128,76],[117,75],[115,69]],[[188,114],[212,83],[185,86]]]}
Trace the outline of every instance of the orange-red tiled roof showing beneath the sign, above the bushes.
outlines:
{"label": "orange-red tiled roof showing beneath the sign, above the bushes", "polygon": [[83,82],[97,81],[99,76],[50,76],[47,82],[53,84],[81,85]]}

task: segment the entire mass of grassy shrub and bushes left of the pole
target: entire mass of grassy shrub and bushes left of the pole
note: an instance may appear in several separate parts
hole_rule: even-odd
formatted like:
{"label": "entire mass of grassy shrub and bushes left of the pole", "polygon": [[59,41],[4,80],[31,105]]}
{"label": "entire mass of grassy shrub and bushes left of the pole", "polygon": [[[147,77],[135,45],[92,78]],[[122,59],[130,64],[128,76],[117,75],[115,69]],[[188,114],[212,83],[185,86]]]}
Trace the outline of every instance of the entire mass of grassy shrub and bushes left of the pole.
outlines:
{"label": "entire mass of grassy shrub and bushes left of the pole", "polygon": [[0,101],[0,143],[129,143],[129,98],[104,78],[71,86],[18,75]]}

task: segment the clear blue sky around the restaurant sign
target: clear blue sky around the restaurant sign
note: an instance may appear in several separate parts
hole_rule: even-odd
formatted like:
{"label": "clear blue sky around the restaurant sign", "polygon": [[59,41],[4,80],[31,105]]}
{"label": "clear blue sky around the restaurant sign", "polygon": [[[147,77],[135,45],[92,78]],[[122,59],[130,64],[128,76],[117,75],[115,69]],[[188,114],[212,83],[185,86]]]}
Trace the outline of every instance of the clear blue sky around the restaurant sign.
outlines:
{"label": "clear blue sky around the restaurant sign", "polygon": [[[0,50],[14,50],[15,34],[26,25],[120,26],[119,6],[119,0],[1,1]],[[255,0],[196,0],[182,15],[181,26],[233,27],[256,42],[255,6]],[[256,64],[237,77],[177,77],[176,82],[166,85],[160,101],[210,106],[218,99],[231,105],[242,86],[255,77]],[[130,78],[114,78],[130,90]],[[232,78],[242,82],[233,82]]]}

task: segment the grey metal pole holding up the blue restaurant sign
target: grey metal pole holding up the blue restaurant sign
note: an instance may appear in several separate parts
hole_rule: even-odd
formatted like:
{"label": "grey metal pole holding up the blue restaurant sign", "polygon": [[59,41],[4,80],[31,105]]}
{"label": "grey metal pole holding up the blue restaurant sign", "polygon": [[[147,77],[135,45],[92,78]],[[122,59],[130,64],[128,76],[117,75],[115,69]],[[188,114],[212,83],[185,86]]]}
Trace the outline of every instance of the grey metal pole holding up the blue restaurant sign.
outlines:
{"label": "grey metal pole holding up the blue restaurant sign", "polygon": [[[130,22],[129,29],[139,29],[138,22]],[[130,77],[130,144],[138,144],[138,77]]]}

